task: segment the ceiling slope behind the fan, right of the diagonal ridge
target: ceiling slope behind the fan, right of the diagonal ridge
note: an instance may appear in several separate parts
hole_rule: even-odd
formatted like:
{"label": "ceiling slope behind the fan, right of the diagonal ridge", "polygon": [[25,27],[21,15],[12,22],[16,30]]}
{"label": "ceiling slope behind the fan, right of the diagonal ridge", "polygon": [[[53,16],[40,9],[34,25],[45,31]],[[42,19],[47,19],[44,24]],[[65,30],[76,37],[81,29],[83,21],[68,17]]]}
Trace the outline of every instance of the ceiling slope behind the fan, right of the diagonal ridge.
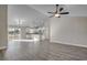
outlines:
{"label": "ceiling slope behind the fan, right of the diagonal ridge", "polygon": [[[50,17],[48,11],[55,11],[55,4],[30,4],[33,9]],[[62,4],[64,11],[69,11],[67,17],[87,17],[87,4]]]}

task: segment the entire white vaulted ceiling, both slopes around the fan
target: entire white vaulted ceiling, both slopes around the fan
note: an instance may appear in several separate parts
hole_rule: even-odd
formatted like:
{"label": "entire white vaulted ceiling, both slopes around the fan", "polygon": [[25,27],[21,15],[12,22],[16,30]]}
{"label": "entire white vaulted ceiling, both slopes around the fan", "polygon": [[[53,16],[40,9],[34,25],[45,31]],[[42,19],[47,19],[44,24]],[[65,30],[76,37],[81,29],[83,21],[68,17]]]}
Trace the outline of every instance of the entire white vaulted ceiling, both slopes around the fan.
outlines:
{"label": "entire white vaulted ceiling, both slopes around the fan", "polygon": [[[87,17],[87,4],[62,4],[64,11],[69,11],[66,17]],[[55,11],[55,4],[10,4],[8,6],[9,24],[18,24],[15,20],[25,20],[23,25],[41,25]],[[62,15],[65,17],[65,15]]]}

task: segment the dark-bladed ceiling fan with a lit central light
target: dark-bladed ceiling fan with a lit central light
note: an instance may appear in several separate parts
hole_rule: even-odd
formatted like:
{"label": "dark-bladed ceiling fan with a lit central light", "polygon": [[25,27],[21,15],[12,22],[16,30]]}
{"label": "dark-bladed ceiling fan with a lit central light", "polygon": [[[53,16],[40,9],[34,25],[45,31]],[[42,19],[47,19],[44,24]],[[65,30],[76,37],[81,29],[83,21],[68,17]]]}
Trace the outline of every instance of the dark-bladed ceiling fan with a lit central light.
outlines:
{"label": "dark-bladed ceiling fan with a lit central light", "polygon": [[53,14],[50,18],[53,18],[53,17],[61,18],[61,14],[69,14],[69,12],[62,12],[64,10],[64,8],[59,8],[58,6],[59,4],[56,4],[56,11],[55,12],[47,12],[47,13]]}

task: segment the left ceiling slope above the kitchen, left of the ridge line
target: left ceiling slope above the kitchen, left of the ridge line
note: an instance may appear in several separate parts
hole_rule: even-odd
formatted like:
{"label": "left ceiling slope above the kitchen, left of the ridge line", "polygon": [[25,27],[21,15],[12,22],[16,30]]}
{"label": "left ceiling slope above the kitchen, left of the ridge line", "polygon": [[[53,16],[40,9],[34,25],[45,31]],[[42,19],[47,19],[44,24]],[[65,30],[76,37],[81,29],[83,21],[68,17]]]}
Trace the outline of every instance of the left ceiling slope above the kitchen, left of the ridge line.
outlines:
{"label": "left ceiling slope above the kitchen, left of the ridge line", "polygon": [[8,24],[18,25],[19,20],[21,25],[34,26],[42,25],[44,19],[47,17],[35,9],[24,4],[11,4],[8,6]]}

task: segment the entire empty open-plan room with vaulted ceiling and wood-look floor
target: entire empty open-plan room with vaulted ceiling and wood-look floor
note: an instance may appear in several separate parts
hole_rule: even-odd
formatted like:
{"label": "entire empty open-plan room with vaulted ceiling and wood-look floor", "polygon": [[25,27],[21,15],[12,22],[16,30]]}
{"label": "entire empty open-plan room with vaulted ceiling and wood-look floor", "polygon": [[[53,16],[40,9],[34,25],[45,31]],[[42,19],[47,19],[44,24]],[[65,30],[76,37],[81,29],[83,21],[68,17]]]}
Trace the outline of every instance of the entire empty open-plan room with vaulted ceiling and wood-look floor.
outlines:
{"label": "entire empty open-plan room with vaulted ceiling and wood-look floor", "polygon": [[87,4],[0,4],[0,61],[87,61]]}

